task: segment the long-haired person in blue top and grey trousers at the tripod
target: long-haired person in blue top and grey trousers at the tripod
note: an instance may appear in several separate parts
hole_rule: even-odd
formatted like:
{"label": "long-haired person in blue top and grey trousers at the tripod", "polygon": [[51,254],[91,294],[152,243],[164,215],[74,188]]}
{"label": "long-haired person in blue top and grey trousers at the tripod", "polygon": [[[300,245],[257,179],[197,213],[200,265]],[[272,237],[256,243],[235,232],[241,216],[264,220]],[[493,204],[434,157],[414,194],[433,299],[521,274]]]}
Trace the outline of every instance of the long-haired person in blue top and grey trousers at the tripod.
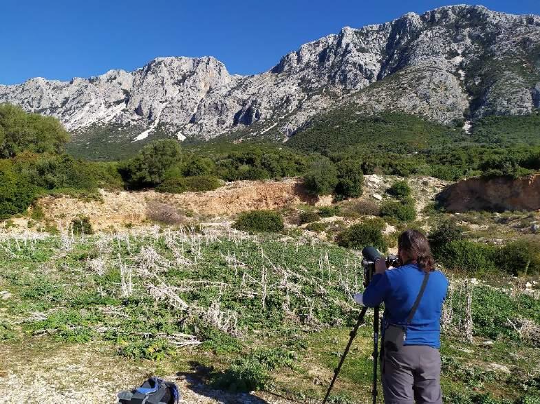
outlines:
{"label": "long-haired person in blue top and grey trousers at the tripod", "polygon": [[355,300],[369,307],[385,303],[380,364],[385,403],[440,404],[440,317],[449,282],[435,271],[422,233],[402,233],[398,256],[401,265],[391,270],[384,259],[377,260],[371,284]]}

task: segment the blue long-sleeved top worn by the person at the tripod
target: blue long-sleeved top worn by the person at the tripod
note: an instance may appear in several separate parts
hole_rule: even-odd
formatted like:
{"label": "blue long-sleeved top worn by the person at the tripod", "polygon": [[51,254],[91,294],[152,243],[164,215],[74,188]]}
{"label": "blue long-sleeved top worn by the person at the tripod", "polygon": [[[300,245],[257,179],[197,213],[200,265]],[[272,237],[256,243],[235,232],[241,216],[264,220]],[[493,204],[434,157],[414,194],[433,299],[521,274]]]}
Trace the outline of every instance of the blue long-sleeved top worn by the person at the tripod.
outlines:
{"label": "blue long-sleeved top worn by the person at the tripod", "polygon": [[[385,303],[383,333],[385,324],[407,324],[407,317],[423,280],[424,271],[415,264],[403,265],[374,276],[364,291],[363,302],[368,307]],[[440,318],[448,284],[442,272],[431,271],[422,300],[411,324],[407,326],[404,345],[440,348]]]}

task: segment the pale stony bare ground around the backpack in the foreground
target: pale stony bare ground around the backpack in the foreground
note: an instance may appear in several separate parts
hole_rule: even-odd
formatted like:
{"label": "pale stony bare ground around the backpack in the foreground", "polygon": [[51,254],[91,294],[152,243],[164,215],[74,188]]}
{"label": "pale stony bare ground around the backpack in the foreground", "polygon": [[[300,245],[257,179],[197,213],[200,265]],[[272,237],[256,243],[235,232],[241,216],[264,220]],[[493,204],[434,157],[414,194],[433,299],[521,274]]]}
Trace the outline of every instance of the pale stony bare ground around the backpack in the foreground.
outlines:
{"label": "pale stony bare ground around the backpack in the foreground", "polygon": [[[106,404],[116,403],[121,390],[140,385],[151,369],[111,352],[105,344],[0,345],[0,397],[3,403]],[[149,366],[151,366],[149,364]],[[268,393],[228,394],[207,388],[194,372],[165,377],[174,381],[189,404],[289,404]]]}

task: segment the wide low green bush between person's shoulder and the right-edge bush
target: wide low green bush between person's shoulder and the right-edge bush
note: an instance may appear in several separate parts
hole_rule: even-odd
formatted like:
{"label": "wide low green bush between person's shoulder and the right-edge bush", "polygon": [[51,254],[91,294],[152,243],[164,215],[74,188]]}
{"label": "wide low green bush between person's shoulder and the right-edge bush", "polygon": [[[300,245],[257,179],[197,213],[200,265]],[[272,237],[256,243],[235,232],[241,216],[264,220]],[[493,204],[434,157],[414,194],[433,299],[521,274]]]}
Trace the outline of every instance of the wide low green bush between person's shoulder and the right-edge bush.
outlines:
{"label": "wide low green bush between person's shoulder and the right-edge bush", "polygon": [[442,248],[440,260],[446,268],[471,274],[495,271],[497,247],[471,240],[455,240]]}

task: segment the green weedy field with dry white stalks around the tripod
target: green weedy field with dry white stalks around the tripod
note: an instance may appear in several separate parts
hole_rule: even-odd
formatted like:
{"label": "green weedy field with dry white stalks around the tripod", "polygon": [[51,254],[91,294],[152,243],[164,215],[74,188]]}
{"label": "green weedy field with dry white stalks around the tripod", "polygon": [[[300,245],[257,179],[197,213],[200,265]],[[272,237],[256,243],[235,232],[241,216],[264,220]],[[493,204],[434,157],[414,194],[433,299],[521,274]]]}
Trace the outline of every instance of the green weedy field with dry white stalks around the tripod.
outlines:
{"label": "green weedy field with dry white stalks around the tripod", "polygon": [[[198,363],[209,369],[199,377],[224,390],[262,388],[320,400],[358,315],[350,293],[362,289],[362,277],[357,253],[304,237],[180,228],[5,238],[0,289],[11,296],[0,300],[1,344],[27,347],[17,351],[19,357],[41,355],[43,341],[107,346],[104,355],[162,376],[191,371]],[[444,394],[491,394],[501,403],[538,394],[540,348],[507,319],[538,326],[539,300],[504,282],[497,289],[478,284],[475,344],[468,344],[460,333],[464,298],[457,287],[449,300]],[[345,361],[335,403],[369,398],[370,319],[367,324]],[[493,345],[483,345],[486,339]]]}

